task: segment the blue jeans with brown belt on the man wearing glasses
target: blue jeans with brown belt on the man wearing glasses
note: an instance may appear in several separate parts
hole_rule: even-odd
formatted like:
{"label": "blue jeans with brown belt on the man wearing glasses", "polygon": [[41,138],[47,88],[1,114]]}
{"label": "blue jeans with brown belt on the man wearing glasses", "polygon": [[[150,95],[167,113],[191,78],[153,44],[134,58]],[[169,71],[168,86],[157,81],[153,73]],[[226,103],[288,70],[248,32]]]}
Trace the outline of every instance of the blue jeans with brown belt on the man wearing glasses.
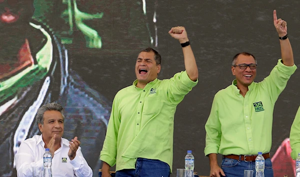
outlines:
{"label": "blue jeans with brown belt on the man wearing glasses", "polygon": [[[253,177],[255,177],[255,161],[235,160],[231,158],[223,158],[222,170],[226,177],[243,177],[245,169],[253,170]],[[270,158],[264,160],[264,177],[273,177],[273,168]]]}

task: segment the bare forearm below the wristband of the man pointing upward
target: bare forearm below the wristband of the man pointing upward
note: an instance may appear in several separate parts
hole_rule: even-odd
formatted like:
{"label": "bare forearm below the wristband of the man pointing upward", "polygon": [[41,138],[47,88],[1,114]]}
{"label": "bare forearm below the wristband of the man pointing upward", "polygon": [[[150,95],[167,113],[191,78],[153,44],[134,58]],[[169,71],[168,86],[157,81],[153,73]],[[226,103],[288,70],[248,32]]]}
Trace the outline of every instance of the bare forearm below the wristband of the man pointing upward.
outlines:
{"label": "bare forearm below the wristband of the man pointing upward", "polygon": [[292,49],[288,38],[285,40],[279,40],[279,42],[280,42],[282,63],[286,66],[293,66],[294,65],[293,54],[292,54]]}

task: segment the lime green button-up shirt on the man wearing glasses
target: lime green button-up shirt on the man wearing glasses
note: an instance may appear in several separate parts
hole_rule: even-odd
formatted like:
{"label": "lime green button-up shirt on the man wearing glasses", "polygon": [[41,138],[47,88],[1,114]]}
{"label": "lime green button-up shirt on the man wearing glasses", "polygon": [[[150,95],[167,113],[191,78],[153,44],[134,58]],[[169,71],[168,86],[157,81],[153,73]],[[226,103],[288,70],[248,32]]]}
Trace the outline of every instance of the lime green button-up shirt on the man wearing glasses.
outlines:
{"label": "lime green button-up shirt on the man wearing glasses", "polygon": [[218,91],[205,124],[205,155],[269,152],[274,104],[295,70],[295,65],[285,66],[279,59],[269,76],[248,86],[244,97],[236,80]]}

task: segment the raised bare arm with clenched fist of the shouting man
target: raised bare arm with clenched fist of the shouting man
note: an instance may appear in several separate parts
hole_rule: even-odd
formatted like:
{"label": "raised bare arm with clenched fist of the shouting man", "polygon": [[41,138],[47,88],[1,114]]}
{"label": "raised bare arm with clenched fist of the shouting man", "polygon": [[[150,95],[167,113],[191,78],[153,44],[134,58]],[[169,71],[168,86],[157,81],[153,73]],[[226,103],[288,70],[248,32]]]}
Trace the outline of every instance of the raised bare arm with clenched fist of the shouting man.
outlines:
{"label": "raised bare arm with clenched fist of the shouting man", "polygon": [[[186,44],[186,42],[188,42],[187,33],[184,27],[173,27],[168,33],[171,37],[177,39],[180,44]],[[198,68],[190,45],[182,47],[182,52],[185,71],[190,80],[196,81],[198,79]]]}

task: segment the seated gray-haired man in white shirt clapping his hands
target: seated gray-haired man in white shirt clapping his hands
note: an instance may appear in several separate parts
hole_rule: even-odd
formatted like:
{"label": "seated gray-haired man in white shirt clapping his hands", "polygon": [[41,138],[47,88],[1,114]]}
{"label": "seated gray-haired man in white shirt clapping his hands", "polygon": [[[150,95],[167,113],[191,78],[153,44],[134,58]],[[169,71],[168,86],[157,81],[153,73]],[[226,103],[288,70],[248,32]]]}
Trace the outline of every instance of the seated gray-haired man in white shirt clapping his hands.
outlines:
{"label": "seated gray-haired man in white shirt clapping his hands", "polygon": [[20,144],[14,157],[17,176],[32,176],[33,166],[43,169],[45,148],[49,148],[52,154],[52,176],[92,176],[77,137],[71,141],[62,138],[64,115],[59,104],[41,106],[37,110],[36,121],[41,135],[34,135]]}

